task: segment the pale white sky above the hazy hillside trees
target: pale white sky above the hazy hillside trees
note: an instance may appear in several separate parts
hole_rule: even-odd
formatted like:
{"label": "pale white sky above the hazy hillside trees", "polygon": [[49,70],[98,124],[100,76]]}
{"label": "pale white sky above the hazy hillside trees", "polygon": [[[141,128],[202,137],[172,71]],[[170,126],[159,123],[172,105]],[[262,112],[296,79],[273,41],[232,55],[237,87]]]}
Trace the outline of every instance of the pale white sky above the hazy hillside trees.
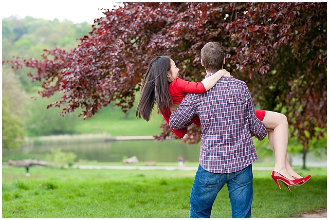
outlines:
{"label": "pale white sky above the hazy hillside trees", "polygon": [[94,24],[94,20],[103,17],[101,8],[111,9],[115,2],[113,0],[5,0],[1,1],[2,17],[18,15],[21,19],[32,16],[35,19],[53,21],[59,19],[61,22],[67,19],[73,23],[84,21]]}

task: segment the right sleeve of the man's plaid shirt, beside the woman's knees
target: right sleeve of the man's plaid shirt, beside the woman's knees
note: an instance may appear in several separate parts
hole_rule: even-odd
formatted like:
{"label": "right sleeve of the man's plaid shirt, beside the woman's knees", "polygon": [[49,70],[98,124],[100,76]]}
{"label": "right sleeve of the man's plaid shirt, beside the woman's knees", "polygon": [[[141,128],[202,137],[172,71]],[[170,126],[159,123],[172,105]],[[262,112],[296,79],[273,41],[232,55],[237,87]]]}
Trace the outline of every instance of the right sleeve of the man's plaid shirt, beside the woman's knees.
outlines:
{"label": "right sleeve of the man's plaid shirt, beside the woman's knees", "polygon": [[267,135],[265,124],[256,117],[255,107],[246,83],[245,86],[245,96],[247,99],[247,107],[249,111],[249,130],[252,136],[257,137],[258,140],[264,140]]}

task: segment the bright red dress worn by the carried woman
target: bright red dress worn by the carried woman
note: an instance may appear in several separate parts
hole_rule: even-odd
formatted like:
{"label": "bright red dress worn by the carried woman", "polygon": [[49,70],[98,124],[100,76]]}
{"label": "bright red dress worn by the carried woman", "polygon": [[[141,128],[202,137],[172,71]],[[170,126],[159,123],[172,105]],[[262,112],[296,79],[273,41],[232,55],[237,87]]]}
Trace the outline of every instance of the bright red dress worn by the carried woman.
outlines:
{"label": "bright red dress worn by the carried woman", "polygon": [[[202,82],[195,83],[176,78],[172,83],[169,84],[169,93],[172,97],[173,104],[180,103],[187,93],[203,94],[206,93],[206,91],[207,90],[205,89],[205,86],[202,84]],[[165,118],[167,124],[169,124],[170,114],[170,107],[162,113],[162,116]],[[256,109],[256,117],[263,121],[265,117],[265,110]],[[201,126],[200,119],[197,116],[191,120],[191,123],[194,123],[199,127]],[[171,128],[171,130],[177,137],[180,138],[184,137],[184,135],[187,133],[187,127],[178,130]]]}

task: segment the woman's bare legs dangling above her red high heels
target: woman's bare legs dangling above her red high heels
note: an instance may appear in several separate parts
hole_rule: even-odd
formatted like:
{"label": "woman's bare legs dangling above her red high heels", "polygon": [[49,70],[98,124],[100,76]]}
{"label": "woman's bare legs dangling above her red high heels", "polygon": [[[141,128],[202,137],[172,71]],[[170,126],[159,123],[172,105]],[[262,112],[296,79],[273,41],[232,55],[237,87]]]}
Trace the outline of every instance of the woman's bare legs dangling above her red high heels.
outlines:
{"label": "woman's bare legs dangling above her red high heels", "polygon": [[[286,116],[277,112],[266,111],[263,122],[266,129],[268,129],[269,144],[276,156],[273,170],[293,180],[294,177],[287,170],[288,163],[290,172],[293,171],[287,159],[288,121]],[[293,174],[296,175],[297,173],[294,171]],[[299,177],[299,175],[296,177]]]}

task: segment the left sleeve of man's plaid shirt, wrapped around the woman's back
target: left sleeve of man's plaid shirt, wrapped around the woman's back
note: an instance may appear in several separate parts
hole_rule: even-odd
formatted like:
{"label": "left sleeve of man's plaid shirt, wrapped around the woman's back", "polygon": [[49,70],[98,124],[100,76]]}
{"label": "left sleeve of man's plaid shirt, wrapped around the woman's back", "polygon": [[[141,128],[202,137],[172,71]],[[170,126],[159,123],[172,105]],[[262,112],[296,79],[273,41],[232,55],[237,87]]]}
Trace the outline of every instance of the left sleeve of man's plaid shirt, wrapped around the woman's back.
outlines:
{"label": "left sleeve of man's plaid shirt, wrapped around the woman's back", "polygon": [[191,104],[190,94],[187,94],[176,111],[171,113],[169,126],[173,129],[183,129],[191,124],[190,121],[194,115],[196,115],[196,109]]}

